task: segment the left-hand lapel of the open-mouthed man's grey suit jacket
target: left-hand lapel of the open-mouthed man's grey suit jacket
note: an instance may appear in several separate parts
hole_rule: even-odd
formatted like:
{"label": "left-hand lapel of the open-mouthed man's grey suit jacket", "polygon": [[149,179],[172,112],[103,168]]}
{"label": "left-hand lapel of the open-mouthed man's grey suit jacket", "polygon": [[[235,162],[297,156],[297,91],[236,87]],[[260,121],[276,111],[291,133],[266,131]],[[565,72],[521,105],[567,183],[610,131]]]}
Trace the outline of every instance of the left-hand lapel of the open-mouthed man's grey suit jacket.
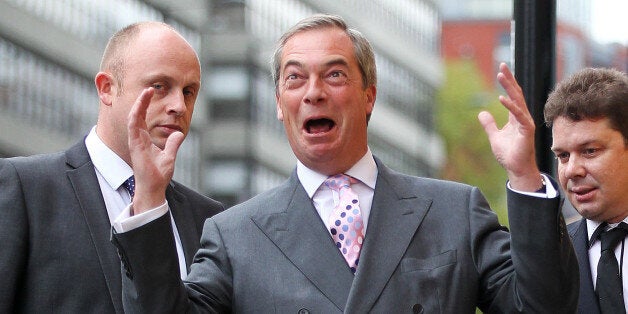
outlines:
{"label": "left-hand lapel of the open-mouthed man's grey suit jacket", "polygon": [[[339,310],[344,310],[353,274],[327,232],[312,201],[299,183],[296,172],[277,195],[286,203],[279,212],[251,219]],[[285,209],[285,210],[284,210]]]}

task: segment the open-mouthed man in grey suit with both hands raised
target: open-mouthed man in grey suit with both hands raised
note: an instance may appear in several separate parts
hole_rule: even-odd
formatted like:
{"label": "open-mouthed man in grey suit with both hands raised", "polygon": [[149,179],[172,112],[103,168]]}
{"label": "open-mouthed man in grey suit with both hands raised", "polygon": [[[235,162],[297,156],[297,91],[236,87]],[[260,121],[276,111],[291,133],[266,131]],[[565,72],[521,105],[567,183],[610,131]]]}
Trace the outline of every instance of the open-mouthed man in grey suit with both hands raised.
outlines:
{"label": "open-mouthed man in grey suit with both hands raised", "polygon": [[[127,271],[125,310],[575,310],[577,261],[554,182],[534,162],[534,123],[522,99],[503,98],[513,113],[501,130],[482,120],[510,179],[509,234],[478,188],[403,175],[373,157],[367,124],[376,98],[375,58],[368,41],[340,17],[299,22],[279,40],[273,65],[277,116],[298,158],[296,170],[277,188],[208,219],[185,281],[176,276],[174,250],[150,245],[172,241],[160,216],[165,200],[140,188],[163,189],[168,178],[158,182],[138,172],[141,203],[130,209],[154,220],[114,230]],[[501,75],[514,94],[512,74]],[[144,106],[139,100],[132,115]],[[142,131],[130,121],[131,141]],[[131,146],[133,160],[159,163],[164,154],[144,144]]]}

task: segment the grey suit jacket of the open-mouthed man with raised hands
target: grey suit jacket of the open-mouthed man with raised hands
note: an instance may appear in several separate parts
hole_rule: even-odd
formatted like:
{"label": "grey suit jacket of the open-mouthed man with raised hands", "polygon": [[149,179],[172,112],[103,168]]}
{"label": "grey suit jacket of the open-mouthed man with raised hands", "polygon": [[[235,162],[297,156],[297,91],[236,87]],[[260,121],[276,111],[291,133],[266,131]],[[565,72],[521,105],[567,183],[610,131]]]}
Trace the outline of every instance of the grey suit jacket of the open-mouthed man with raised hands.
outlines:
{"label": "grey suit jacket of the open-mouthed man with raised hands", "polygon": [[[379,174],[354,275],[293,173],[206,221],[185,285],[162,218],[115,235],[129,313],[573,313],[560,201],[509,193],[511,235],[475,187]],[[165,216],[164,216],[165,217]],[[159,262],[156,262],[159,261]],[[172,264],[172,263],[170,263]],[[178,288],[177,288],[178,287]]]}

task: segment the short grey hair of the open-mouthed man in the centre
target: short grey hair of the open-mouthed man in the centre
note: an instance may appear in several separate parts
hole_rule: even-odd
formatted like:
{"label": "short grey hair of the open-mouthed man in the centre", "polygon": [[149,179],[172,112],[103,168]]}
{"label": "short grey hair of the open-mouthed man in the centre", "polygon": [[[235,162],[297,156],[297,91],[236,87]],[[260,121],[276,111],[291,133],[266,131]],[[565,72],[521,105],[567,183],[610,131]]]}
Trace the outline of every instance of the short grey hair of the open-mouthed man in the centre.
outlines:
{"label": "short grey hair of the open-mouthed man in the centre", "polygon": [[305,18],[299,21],[296,25],[285,32],[275,48],[275,52],[271,59],[272,64],[272,76],[275,82],[275,90],[279,88],[279,76],[281,71],[281,54],[286,45],[286,42],[292,38],[292,36],[309,31],[324,28],[338,28],[344,31],[351,42],[353,43],[353,50],[355,58],[358,61],[360,72],[362,73],[362,87],[367,88],[371,85],[377,85],[377,69],[375,66],[375,53],[369,41],[359,31],[349,28],[347,23],[337,15],[330,14],[316,14],[311,17]]}

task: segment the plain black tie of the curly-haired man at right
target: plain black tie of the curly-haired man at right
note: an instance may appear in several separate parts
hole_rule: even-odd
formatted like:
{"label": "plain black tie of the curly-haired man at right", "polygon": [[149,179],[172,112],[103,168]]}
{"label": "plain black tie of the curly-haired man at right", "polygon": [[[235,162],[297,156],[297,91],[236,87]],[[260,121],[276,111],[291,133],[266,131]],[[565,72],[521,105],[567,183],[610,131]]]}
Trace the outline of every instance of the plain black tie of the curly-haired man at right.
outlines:
{"label": "plain black tie of the curly-haired man at right", "polygon": [[621,275],[615,258],[615,247],[628,233],[624,227],[628,226],[622,222],[620,226],[600,234],[602,254],[597,265],[595,287],[604,314],[626,313]]}

